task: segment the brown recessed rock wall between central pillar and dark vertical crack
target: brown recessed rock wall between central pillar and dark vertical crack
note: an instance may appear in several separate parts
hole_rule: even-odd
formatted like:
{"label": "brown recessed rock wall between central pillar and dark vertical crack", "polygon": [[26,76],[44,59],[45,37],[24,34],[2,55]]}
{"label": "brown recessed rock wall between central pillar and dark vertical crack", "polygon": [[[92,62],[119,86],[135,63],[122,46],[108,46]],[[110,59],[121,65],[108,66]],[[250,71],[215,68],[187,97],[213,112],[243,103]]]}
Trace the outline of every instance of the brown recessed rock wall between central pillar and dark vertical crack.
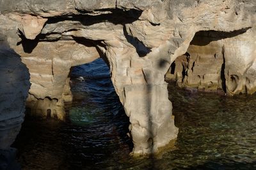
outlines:
{"label": "brown recessed rock wall between central pillar and dark vertical crack", "polygon": [[223,41],[217,35],[216,31],[197,32],[187,52],[172,63],[166,81],[175,81],[179,87],[225,91]]}

